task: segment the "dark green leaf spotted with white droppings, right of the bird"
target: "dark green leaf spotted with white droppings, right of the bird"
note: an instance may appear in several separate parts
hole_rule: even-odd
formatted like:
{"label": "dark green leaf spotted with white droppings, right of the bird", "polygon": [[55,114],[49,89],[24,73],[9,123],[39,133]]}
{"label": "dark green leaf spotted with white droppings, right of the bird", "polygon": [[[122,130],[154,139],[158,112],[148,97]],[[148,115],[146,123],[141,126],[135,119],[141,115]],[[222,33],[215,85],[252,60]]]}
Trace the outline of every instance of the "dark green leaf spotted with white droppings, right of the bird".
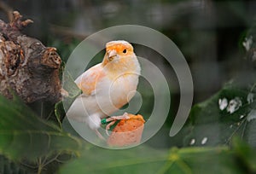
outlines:
{"label": "dark green leaf spotted with white droppings, right of the bird", "polygon": [[[253,96],[247,101],[248,94]],[[233,136],[240,136],[251,146],[256,147],[255,120],[252,117],[256,109],[253,90],[235,85],[224,86],[216,95],[205,102],[192,107],[190,119],[190,133],[184,138],[184,146],[217,146],[230,144]],[[227,100],[228,106],[221,109],[219,102]],[[233,102],[239,103],[237,109],[229,109]],[[251,115],[251,116],[250,116]],[[256,115],[255,115],[256,116]]]}

